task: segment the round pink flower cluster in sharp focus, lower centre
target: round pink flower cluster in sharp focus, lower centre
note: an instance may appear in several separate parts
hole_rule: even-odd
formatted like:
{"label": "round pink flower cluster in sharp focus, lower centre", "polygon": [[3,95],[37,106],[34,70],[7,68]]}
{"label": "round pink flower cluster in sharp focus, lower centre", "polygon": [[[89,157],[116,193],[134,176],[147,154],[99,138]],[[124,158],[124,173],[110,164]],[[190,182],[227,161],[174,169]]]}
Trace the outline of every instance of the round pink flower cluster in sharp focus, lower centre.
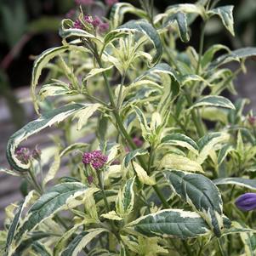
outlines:
{"label": "round pink flower cluster in sharp focus, lower centre", "polygon": [[96,170],[103,168],[107,162],[107,156],[103,155],[101,151],[85,152],[82,155],[83,164],[91,164]]}

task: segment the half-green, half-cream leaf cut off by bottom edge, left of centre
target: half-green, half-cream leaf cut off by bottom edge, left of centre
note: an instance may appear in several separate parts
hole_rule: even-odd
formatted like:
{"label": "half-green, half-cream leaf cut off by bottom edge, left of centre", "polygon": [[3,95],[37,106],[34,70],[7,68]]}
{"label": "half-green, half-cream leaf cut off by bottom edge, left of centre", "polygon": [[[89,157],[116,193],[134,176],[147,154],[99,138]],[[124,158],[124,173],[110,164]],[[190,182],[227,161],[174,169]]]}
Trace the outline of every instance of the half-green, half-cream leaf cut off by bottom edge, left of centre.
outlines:
{"label": "half-green, half-cream leaf cut off by bottom edge, left of centre", "polygon": [[65,251],[61,253],[61,256],[77,256],[79,252],[82,251],[83,247],[86,247],[89,242],[91,242],[100,233],[105,232],[105,229],[92,229],[87,231],[82,231],[77,235],[71,243],[66,247]]}

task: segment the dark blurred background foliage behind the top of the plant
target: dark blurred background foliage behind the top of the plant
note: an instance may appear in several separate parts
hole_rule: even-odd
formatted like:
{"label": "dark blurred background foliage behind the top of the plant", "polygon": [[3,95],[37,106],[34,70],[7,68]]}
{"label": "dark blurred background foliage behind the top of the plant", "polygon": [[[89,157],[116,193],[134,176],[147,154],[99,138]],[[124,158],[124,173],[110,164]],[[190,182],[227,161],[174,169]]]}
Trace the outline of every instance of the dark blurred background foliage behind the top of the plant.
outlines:
{"label": "dark blurred background foliage behind the top of the plant", "polygon": [[[218,0],[215,0],[218,1]],[[139,6],[139,1],[130,0]],[[206,30],[206,45],[223,43],[230,48],[253,46],[256,42],[256,0],[221,0],[222,5],[235,5],[236,37],[223,29],[219,20],[210,20]],[[156,11],[163,11],[175,3],[195,1],[157,0]],[[1,0],[0,1],[0,96],[12,112],[17,127],[25,121],[22,107],[15,99],[13,89],[28,86],[31,80],[32,60],[44,49],[60,44],[60,20],[74,9],[73,0]],[[129,19],[131,17],[127,17]],[[201,20],[192,25],[191,44],[198,45]],[[180,43],[179,48],[185,48]]]}

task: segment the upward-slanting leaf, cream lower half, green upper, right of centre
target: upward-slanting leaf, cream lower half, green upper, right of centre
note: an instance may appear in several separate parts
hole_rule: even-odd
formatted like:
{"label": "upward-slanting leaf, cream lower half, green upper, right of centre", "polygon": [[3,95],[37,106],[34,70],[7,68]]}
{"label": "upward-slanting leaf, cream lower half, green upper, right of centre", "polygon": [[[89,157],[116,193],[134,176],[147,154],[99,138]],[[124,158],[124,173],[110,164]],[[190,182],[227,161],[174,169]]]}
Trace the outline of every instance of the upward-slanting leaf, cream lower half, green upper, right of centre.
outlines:
{"label": "upward-slanting leaf, cream lower half, green upper, right of centre", "polygon": [[221,143],[225,143],[229,139],[230,135],[226,133],[211,133],[203,136],[197,143],[200,151],[196,162],[202,164],[211,151],[217,150]]}

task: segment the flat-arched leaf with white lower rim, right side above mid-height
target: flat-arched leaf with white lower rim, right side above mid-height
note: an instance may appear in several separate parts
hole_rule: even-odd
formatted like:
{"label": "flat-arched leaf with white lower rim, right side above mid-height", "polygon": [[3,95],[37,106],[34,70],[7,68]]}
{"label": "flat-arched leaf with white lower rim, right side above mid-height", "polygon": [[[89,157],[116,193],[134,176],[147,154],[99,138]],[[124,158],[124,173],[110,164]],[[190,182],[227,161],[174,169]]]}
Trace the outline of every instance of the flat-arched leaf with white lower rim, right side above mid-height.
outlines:
{"label": "flat-arched leaf with white lower rim, right side above mid-height", "polygon": [[214,106],[214,107],[223,107],[227,109],[235,110],[235,105],[232,104],[230,100],[223,96],[204,96],[202,99],[197,100],[190,108],[193,109],[195,107],[201,107],[201,106]]}

